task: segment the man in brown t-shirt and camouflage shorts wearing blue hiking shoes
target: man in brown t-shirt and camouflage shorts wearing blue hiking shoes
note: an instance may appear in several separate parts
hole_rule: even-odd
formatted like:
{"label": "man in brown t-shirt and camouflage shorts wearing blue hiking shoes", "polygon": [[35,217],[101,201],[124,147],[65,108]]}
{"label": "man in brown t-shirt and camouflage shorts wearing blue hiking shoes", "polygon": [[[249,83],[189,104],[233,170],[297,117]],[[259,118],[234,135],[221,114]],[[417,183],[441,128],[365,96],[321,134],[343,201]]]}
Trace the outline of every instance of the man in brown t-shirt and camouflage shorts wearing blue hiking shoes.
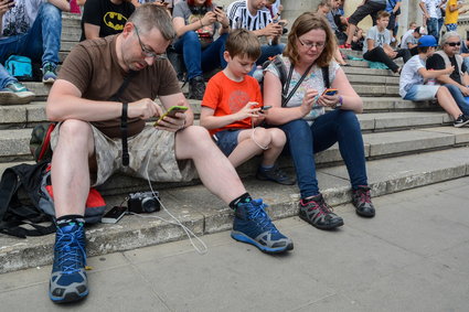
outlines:
{"label": "man in brown t-shirt and camouflage shorts wearing blue hiking shoes", "polygon": [[[150,181],[203,184],[234,211],[238,240],[267,254],[291,250],[265,212],[246,192],[236,170],[209,131],[193,126],[193,112],[163,54],[175,37],[166,9],[136,9],[120,34],[77,44],[47,98],[46,115],[58,121],[51,136],[56,236],[49,295],[55,303],[88,294],[84,209],[90,185],[115,172]],[[113,77],[109,79],[109,77]],[[159,98],[161,106],[153,101]],[[185,112],[166,116],[171,107]]]}

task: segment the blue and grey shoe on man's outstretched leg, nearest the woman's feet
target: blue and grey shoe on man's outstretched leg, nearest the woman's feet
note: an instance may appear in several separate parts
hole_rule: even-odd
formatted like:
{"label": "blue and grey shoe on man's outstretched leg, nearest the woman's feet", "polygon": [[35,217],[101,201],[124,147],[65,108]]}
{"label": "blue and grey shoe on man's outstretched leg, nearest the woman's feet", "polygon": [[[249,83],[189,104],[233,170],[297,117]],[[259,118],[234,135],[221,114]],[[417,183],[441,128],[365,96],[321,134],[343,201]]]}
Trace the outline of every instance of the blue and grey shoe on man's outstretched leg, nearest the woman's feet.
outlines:
{"label": "blue and grey shoe on man's outstretched leg, nearest the woman's feet", "polygon": [[284,236],[271,223],[263,200],[241,203],[235,211],[232,237],[238,241],[256,246],[267,254],[294,249],[290,238]]}

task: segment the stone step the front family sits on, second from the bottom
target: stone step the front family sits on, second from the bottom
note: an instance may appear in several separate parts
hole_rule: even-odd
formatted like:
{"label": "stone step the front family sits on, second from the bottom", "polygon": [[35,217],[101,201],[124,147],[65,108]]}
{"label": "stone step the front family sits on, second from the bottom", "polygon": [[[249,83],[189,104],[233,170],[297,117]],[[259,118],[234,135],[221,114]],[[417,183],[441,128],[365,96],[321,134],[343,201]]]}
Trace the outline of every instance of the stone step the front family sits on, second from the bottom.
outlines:
{"label": "stone step the front family sits on, second from the bottom", "polygon": [[[367,159],[409,154],[426,150],[449,149],[469,143],[469,131],[467,129],[456,129],[451,126],[435,127],[434,122],[438,120],[439,125],[449,121],[449,118],[445,114],[436,112],[435,116],[422,118],[403,117],[402,120],[397,119],[397,121],[394,120],[395,118],[382,116],[380,114],[375,118],[365,115],[364,117],[365,118],[361,119],[360,122],[366,131],[363,135],[363,141],[365,146],[365,157]],[[415,120],[413,121],[415,123],[424,123],[415,127],[434,127],[415,130],[384,131],[386,127],[408,128],[409,126],[406,126],[408,120]],[[387,130],[388,129],[390,128],[387,128]],[[32,160],[29,150],[31,130],[30,128],[1,130],[0,162]],[[340,162],[341,159],[339,148],[334,144],[329,150],[318,153],[317,163],[319,165],[330,165],[334,162]],[[286,163],[288,163],[288,161],[286,161]],[[254,164],[253,169],[246,165],[246,174],[254,172]]]}

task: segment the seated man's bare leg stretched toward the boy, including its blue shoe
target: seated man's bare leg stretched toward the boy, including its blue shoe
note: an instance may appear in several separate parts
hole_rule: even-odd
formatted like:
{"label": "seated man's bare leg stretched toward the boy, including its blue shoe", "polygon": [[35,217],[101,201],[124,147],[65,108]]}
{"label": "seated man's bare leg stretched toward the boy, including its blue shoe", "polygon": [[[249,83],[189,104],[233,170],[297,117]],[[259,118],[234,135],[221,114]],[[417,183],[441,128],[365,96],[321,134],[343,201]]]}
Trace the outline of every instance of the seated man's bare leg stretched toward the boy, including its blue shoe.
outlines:
{"label": "seated man's bare leg stretched toward the boy, including its blue shoe", "polygon": [[191,126],[175,136],[175,158],[191,159],[203,184],[235,211],[232,237],[252,244],[264,252],[291,250],[285,237],[265,212],[262,200],[253,200],[234,166],[215,146],[206,129]]}

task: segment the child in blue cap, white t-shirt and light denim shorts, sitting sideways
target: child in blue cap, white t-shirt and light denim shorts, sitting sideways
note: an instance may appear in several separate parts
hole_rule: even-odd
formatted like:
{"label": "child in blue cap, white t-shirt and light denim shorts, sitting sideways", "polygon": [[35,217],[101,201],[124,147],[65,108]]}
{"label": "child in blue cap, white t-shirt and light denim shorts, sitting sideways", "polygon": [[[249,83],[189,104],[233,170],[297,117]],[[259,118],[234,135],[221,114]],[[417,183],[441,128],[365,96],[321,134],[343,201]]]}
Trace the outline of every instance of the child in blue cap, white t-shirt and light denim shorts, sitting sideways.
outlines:
{"label": "child in blue cap, white t-shirt and light denim shorts, sitting sideways", "polygon": [[[418,54],[411,57],[401,72],[399,95],[403,99],[416,101],[436,98],[439,106],[454,118],[454,126],[459,128],[469,123],[469,117],[461,111],[460,105],[456,103],[449,89],[441,85],[424,84],[443,75],[450,75],[455,71],[454,66],[437,71],[425,68],[426,60],[435,53],[437,45],[437,41],[433,35],[423,35],[418,39],[416,47]],[[461,105],[466,106],[466,108],[468,107],[466,103]]]}

